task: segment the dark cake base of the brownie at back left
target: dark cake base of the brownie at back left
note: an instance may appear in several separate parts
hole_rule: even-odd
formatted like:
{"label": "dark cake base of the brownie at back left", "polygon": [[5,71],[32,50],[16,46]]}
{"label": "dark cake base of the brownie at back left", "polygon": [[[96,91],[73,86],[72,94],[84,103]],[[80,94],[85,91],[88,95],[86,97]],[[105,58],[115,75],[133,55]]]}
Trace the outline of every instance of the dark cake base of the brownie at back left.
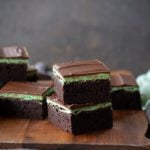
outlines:
{"label": "dark cake base of the brownie at back left", "polygon": [[25,81],[26,64],[0,64],[0,81],[5,84],[7,81]]}

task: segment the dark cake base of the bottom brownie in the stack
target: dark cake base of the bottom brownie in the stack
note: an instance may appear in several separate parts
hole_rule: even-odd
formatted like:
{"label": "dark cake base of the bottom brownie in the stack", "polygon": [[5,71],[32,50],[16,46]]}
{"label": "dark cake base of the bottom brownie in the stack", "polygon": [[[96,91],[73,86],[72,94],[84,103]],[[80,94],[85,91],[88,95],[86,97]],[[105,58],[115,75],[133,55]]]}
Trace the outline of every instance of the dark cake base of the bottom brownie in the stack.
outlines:
{"label": "dark cake base of the bottom brownie in the stack", "polygon": [[71,115],[63,113],[58,108],[48,104],[48,120],[74,135],[109,129],[113,126],[112,110],[110,108]]}

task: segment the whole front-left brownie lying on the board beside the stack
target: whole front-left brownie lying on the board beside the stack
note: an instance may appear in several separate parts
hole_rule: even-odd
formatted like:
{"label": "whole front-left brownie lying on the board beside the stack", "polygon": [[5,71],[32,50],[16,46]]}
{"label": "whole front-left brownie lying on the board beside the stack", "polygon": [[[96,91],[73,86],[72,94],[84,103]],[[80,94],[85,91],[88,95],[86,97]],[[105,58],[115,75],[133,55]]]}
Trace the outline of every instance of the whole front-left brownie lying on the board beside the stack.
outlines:
{"label": "whole front-left brownie lying on the board beside the stack", "polygon": [[0,115],[44,119],[47,117],[46,96],[53,92],[51,86],[53,84],[9,81],[0,89]]}

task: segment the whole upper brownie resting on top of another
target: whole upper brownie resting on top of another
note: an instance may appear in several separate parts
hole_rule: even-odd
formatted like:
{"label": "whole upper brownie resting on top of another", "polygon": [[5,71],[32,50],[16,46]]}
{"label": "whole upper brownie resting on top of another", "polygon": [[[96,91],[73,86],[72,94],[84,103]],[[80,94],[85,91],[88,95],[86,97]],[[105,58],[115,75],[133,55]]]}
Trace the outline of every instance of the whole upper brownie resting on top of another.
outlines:
{"label": "whole upper brownie resting on top of another", "polygon": [[53,79],[64,104],[110,101],[110,72],[99,60],[55,64]]}

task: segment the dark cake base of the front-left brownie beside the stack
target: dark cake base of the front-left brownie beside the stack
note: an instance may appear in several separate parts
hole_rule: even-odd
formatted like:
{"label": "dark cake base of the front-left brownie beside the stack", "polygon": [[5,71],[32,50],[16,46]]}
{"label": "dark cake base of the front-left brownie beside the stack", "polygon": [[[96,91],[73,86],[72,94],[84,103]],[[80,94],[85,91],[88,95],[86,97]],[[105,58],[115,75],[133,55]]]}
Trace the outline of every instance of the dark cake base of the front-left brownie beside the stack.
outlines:
{"label": "dark cake base of the front-left brownie beside the stack", "polygon": [[28,119],[44,119],[47,117],[46,101],[36,100],[0,100],[0,115]]}

